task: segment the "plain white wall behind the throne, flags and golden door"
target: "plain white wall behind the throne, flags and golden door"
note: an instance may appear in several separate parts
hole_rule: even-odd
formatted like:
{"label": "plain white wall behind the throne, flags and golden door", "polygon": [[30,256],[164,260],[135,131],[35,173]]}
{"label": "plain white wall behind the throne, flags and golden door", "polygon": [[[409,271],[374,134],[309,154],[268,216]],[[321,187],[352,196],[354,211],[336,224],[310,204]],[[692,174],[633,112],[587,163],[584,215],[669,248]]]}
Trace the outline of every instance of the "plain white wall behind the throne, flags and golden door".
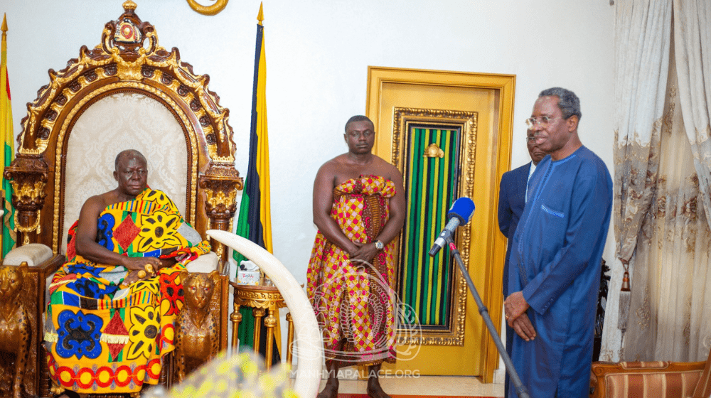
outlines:
{"label": "plain white wall behind the throne, flags and golden door", "polygon": [[[164,48],[178,47],[196,73],[210,75],[210,89],[230,109],[244,176],[260,1],[230,1],[216,16],[197,14],[185,0],[134,1]],[[16,134],[26,102],[49,82],[47,70],[64,68],[81,45],[97,45],[104,24],[122,14],[121,4],[2,1]],[[583,144],[612,171],[608,0],[264,0],[264,27],[274,254],[300,282],[316,233],[314,176],[347,150],[343,124],[365,112],[368,65],[515,74],[512,168],[529,161],[523,121],[538,92],[573,90],[582,103]],[[610,253],[608,247],[606,259]]]}

